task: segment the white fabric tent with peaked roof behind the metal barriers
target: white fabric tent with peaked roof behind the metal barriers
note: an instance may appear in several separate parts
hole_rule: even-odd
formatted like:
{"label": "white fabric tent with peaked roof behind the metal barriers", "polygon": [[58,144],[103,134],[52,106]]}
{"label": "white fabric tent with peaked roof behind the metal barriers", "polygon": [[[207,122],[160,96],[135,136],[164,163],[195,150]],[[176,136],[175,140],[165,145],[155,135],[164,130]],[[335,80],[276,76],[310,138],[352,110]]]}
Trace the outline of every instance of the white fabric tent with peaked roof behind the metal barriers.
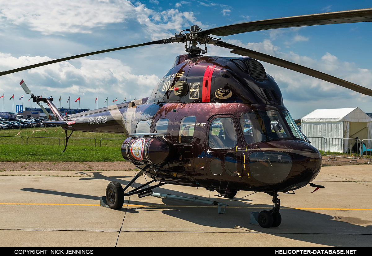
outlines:
{"label": "white fabric tent with peaked roof behind the metal barriers", "polygon": [[[323,137],[324,141],[356,137],[362,141],[372,138],[372,118],[359,108],[316,109],[301,118],[301,130],[306,137]],[[333,140],[332,145],[327,144],[327,150],[346,152],[350,148],[346,141]],[[369,141],[366,146],[371,147]]]}

